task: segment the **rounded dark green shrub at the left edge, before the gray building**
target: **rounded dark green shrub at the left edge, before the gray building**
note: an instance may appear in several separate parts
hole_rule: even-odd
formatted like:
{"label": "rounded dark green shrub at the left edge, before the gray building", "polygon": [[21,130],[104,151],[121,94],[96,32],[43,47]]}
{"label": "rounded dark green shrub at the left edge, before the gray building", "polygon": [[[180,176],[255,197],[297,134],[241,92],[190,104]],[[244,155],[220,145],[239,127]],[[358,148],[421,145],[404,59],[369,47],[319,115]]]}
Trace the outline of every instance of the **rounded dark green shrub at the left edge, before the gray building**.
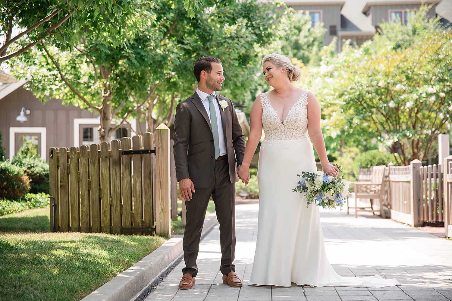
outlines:
{"label": "rounded dark green shrub at the left edge, before the gray building", "polygon": [[20,166],[0,162],[0,199],[17,200],[30,190],[30,180]]}

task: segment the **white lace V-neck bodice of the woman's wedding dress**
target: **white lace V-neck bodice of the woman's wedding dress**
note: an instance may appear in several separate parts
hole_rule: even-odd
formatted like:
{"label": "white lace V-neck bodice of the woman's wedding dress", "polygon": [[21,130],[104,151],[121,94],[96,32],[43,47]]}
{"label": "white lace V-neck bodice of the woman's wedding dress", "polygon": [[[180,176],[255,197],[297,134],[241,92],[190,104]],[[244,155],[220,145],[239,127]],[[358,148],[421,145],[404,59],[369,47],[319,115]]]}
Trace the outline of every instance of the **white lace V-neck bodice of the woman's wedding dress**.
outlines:
{"label": "white lace V-neck bodice of the woman's wedding dress", "polygon": [[300,99],[293,104],[287,113],[284,123],[273,109],[268,96],[260,94],[262,103],[262,125],[264,126],[264,141],[300,140],[307,138],[307,98],[309,90],[301,94]]}

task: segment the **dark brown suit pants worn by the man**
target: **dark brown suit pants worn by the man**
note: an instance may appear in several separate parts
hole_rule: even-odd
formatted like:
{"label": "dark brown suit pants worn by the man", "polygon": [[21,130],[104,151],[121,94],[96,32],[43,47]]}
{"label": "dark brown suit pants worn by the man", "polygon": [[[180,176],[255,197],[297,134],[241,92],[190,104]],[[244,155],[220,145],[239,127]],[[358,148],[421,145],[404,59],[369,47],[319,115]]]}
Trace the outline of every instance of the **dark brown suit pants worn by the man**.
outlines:
{"label": "dark brown suit pants worn by the man", "polygon": [[195,187],[195,192],[192,193],[193,198],[185,201],[187,224],[182,243],[185,260],[185,268],[182,269],[182,273],[190,273],[193,277],[198,274],[196,259],[211,195],[220,223],[220,270],[223,275],[235,272],[235,265],[232,264],[235,257],[235,183],[231,183],[229,178],[229,165],[226,159],[215,161],[212,184],[207,188]]}

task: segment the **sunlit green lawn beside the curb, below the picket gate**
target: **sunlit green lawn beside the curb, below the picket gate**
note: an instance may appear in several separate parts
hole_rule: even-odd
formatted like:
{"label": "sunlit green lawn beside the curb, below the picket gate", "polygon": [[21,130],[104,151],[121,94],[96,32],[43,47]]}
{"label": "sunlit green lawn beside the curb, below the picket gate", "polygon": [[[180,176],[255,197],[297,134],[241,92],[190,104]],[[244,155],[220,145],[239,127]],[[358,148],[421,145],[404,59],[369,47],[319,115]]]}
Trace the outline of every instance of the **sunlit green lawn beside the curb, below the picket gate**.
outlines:
{"label": "sunlit green lawn beside the curb, below the picket gate", "polygon": [[165,242],[159,236],[51,233],[49,223],[49,208],[0,217],[1,301],[80,300]]}

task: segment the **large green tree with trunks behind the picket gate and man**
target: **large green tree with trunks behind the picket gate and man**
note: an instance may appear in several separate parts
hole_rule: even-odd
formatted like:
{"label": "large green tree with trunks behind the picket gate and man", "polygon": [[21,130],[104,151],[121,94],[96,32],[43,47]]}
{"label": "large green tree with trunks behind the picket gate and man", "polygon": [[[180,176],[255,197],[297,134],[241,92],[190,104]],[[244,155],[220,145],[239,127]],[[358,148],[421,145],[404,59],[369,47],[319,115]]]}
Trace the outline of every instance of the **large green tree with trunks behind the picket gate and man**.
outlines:
{"label": "large green tree with trunks behind the picket gate and man", "polygon": [[146,26],[124,45],[97,36],[67,51],[41,43],[12,63],[12,73],[31,78],[28,88],[43,102],[55,97],[99,112],[101,141],[140,112],[147,114],[147,130],[169,122],[176,99],[193,91],[191,70],[200,56],[219,57],[228,72],[225,92],[240,95],[249,78],[244,69],[257,57],[254,46],[272,36],[277,7],[256,0],[203,1],[208,6],[190,18],[185,2],[152,3]]}

